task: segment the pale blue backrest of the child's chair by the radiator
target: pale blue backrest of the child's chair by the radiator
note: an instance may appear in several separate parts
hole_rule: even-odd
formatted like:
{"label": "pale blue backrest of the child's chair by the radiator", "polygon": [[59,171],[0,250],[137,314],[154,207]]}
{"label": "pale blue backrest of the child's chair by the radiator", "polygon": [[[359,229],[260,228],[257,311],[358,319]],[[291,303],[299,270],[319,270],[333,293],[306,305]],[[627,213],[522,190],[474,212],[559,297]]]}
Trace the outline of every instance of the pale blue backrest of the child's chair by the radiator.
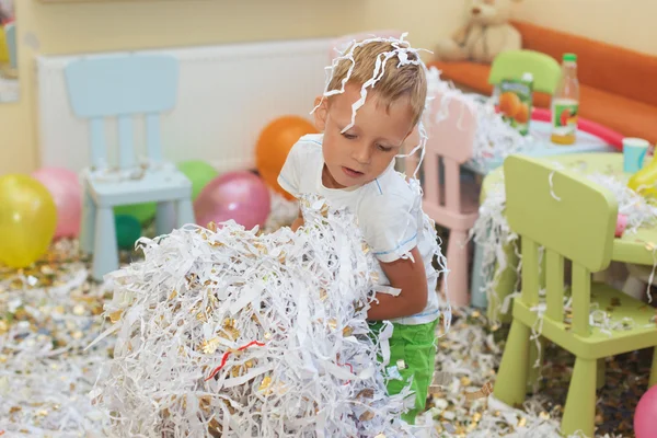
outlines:
{"label": "pale blue backrest of the child's chair by the radiator", "polygon": [[177,60],[166,55],[111,55],[82,58],[66,67],[73,113],[90,119],[92,164],[105,166],[105,118],[118,120],[119,168],[136,164],[134,117],[145,115],[147,154],[161,160],[160,114],[172,110],[178,83]]}

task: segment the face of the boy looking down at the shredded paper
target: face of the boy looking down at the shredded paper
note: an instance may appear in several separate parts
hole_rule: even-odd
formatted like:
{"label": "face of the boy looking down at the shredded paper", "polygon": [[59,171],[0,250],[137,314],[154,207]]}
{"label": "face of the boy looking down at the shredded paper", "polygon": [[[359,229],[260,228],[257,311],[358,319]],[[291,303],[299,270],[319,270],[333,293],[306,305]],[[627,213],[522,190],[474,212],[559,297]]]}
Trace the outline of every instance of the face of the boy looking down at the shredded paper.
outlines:
{"label": "face of the boy looking down at the shredded paper", "polygon": [[[318,97],[318,102],[321,97]],[[324,99],[315,110],[315,125],[324,131],[323,182],[330,188],[367,184],[377,178],[394,160],[413,129],[413,114],[407,97],[387,105],[368,90],[365,105],[356,112],[353,127],[351,105],[360,99],[360,85],[347,83],[345,92]],[[327,172],[326,172],[327,170]]]}

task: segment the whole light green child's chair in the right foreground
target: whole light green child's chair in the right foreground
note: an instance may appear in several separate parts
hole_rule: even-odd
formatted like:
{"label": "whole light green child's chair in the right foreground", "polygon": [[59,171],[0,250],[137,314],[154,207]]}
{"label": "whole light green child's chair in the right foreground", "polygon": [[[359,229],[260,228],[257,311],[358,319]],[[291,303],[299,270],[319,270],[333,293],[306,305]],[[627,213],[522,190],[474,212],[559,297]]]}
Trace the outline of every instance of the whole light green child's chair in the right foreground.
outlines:
{"label": "whole light green child's chair in the right foreground", "polygon": [[[530,333],[539,313],[539,246],[545,247],[545,311],[542,336],[575,355],[575,368],[561,425],[568,436],[581,430],[593,436],[596,385],[606,357],[657,346],[655,310],[602,284],[591,284],[591,273],[611,260],[618,204],[599,185],[546,162],[511,155],[504,163],[506,216],[521,237],[522,291],[514,315],[494,395],[521,405],[530,364]],[[564,260],[572,262],[572,309],[564,309]],[[567,297],[566,297],[567,298]],[[589,324],[591,304],[608,312],[612,322],[624,318],[627,330],[601,332]],[[657,351],[657,349],[655,349]],[[653,356],[649,385],[657,383],[657,353]]]}

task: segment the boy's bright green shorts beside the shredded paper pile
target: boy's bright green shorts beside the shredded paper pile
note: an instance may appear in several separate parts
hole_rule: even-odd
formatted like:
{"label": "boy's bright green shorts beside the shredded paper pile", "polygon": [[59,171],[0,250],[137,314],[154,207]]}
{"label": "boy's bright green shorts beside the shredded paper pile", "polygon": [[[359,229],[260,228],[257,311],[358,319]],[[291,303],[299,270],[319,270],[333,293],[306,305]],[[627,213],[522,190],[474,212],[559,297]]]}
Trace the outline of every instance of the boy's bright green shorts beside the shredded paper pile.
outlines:
{"label": "boy's bright green shorts beside the shredded paper pile", "polygon": [[[415,407],[402,415],[408,424],[415,424],[415,417],[425,411],[427,393],[436,361],[436,324],[433,321],[426,324],[402,325],[393,323],[390,343],[390,362],[388,367],[396,366],[397,360],[404,360],[406,368],[400,369],[403,380],[389,379],[387,387],[391,395],[399,394],[408,380],[413,377],[411,390],[415,392]],[[378,336],[383,327],[382,322],[370,323],[370,331]]]}

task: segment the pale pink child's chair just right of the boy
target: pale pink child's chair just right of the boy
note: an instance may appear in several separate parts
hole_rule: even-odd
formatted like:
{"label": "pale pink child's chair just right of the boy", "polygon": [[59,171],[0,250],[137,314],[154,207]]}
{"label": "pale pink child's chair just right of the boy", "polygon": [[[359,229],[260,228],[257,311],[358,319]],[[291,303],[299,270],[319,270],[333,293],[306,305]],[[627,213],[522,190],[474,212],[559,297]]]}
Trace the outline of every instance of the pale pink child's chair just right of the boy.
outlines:
{"label": "pale pink child's chair just right of the boy", "polygon": [[[442,107],[442,105],[447,105]],[[425,117],[429,137],[425,158],[423,208],[437,224],[450,230],[447,246],[447,286],[450,301],[456,306],[470,303],[468,233],[479,217],[476,183],[461,181],[461,164],[472,158],[476,132],[473,104],[458,92],[436,95]],[[417,154],[406,161],[408,174],[417,165]]]}

